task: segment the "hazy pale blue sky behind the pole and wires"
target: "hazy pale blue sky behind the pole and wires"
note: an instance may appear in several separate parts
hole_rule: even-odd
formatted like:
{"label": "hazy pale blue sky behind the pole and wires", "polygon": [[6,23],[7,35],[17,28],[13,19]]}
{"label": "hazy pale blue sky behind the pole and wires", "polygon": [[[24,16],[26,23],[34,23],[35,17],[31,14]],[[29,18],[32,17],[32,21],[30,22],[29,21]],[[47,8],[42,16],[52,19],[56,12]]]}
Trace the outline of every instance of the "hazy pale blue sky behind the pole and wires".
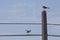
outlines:
{"label": "hazy pale blue sky behind the pole and wires", "polygon": [[[60,0],[0,0],[0,23],[41,23],[42,6],[46,5],[47,23],[60,24]],[[42,34],[41,25],[1,25],[0,34]],[[39,31],[40,30],[40,31]],[[48,34],[60,35],[60,26],[48,25]],[[60,37],[48,37],[59,40]],[[0,37],[0,40],[42,40],[42,37]]]}

